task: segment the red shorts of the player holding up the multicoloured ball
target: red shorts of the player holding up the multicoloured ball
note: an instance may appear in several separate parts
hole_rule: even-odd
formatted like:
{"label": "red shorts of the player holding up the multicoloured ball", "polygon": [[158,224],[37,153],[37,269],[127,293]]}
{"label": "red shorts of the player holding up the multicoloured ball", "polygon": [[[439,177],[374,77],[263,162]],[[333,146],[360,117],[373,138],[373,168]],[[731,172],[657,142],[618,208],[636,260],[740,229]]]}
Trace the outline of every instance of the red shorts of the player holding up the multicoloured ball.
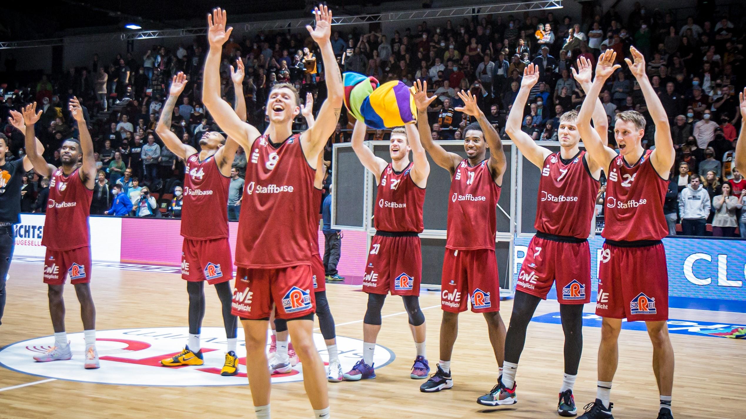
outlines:
{"label": "red shorts of the player holding up the multicoloured ball", "polygon": [[377,233],[371,241],[363,278],[369,294],[419,295],[422,252],[416,234],[391,236]]}

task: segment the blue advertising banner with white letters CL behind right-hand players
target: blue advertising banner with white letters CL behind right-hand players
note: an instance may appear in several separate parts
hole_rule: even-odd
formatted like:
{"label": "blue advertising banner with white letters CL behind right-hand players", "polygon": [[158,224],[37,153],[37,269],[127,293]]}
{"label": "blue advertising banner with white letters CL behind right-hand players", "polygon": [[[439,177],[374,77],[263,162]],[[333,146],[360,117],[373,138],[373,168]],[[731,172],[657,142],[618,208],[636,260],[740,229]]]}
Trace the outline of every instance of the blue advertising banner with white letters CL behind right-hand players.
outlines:
{"label": "blue advertising banner with white letters CL behind right-hand players", "polygon": [[[589,238],[592,301],[598,292],[598,260],[604,238]],[[513,284],[528,252],[529,237],[515,237]],[[675,308],[746,313],[746,241],[663,239],[668,262],[668,305]],[[651,278],[653,280],[654,278]],[[557,298],[552,287],[548,298]]]}

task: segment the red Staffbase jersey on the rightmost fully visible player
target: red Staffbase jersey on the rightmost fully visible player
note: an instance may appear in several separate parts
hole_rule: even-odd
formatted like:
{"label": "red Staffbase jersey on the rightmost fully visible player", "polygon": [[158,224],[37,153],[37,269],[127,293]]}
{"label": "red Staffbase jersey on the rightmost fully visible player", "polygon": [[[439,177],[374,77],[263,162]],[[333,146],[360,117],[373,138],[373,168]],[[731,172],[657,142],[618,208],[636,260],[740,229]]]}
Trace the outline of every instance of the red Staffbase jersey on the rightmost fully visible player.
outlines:
{"label": "red Staffbase jersey on the rightmost fully visible player", "polygon": [[668,235],[663,201],[668,180],[656,172],[648,150],[628,166],[621,156],[609,164],[604,232],[609,240],[661,240]]}

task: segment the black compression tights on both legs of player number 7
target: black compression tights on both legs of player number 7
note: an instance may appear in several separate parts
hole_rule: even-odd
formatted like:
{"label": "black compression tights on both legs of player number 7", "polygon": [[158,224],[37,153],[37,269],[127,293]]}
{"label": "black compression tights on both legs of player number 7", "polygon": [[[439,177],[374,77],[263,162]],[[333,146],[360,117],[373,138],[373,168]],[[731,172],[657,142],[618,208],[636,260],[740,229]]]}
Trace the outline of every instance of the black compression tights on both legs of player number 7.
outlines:
{"label": "black compression tights on both legs of player number 7", "polygon": [[[510,327],[505,336],[505,361],[518,363],[526,343],[526,330],[541,298],[516,291]],[[583,353],[583,304],[560,304],[562,331],[565,333],[565,374],[576,375]]]}

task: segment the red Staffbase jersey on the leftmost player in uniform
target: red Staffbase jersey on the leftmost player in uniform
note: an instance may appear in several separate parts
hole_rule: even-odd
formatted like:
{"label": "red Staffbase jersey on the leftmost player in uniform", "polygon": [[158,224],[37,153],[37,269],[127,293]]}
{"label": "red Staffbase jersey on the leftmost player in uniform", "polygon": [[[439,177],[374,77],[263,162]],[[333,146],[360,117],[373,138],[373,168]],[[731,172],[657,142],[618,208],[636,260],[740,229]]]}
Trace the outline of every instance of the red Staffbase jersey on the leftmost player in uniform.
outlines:
{"label": "red Staffbase jersey on the leftmost player in uniform", "polygon": [[90,246],[90,215],[93,189],[86,188],[81,170],[65,176],[57,169],[49,181],[49,199],[42,246],[49,250],[72,250]]}

